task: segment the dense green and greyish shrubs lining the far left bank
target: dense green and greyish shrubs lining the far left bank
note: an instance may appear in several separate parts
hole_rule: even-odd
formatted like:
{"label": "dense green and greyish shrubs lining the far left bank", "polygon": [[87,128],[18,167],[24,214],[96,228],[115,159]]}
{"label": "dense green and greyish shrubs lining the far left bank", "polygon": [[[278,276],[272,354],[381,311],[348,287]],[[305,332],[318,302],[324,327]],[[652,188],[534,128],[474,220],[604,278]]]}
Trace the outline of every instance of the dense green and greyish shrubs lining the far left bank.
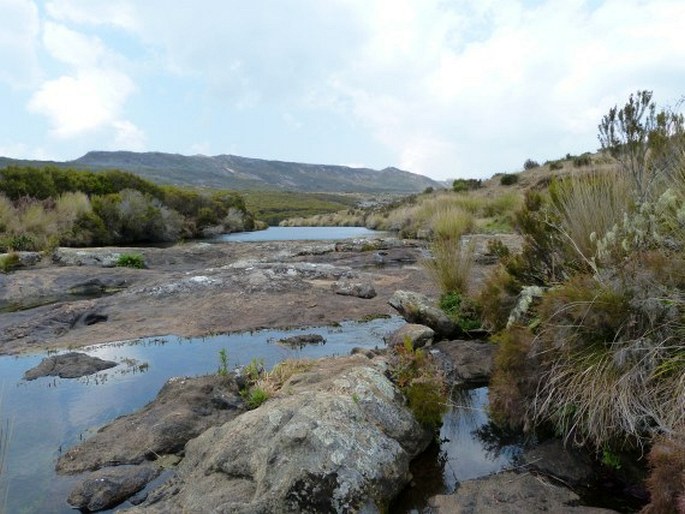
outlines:
{"label": "dense green and greyish shrubs lining the far left bank", "polygon": [[172,242],[253,227],[244,199],[230,191],[158,186],[116,170],[0,169],[0,252]]}

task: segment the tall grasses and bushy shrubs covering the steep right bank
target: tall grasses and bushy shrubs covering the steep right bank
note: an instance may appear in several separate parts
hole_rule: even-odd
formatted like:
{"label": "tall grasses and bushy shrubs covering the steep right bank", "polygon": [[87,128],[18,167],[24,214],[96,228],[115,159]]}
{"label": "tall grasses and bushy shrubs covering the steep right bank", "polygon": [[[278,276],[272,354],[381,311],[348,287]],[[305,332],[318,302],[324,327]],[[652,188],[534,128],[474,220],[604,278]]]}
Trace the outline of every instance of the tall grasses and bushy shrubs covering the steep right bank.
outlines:
{"label": "tall grasses and bushy shrubs covering the steep right bank", "polygon": [[685,123],[641,91],[602,119],[599,137],[617,171],[529,189],[515,215],[522,251],[493,248],[500,265],[474,298],[498,344],[491,414],[614,468],[650,450],[648,510],[676,512],[685,507]]}

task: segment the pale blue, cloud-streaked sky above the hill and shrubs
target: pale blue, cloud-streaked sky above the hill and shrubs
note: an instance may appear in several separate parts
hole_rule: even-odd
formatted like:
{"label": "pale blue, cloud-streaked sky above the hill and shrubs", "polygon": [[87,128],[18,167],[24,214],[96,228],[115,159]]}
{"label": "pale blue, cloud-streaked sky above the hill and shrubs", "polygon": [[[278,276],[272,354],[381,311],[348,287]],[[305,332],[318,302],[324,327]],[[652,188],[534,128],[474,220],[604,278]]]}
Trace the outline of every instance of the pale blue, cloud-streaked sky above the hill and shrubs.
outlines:
{"label": "pale blue, cloud-streaked sky above the hill and shrubs", "polygon": [[0,0],[0,156],[488,178],[685,94],[685,0]]}

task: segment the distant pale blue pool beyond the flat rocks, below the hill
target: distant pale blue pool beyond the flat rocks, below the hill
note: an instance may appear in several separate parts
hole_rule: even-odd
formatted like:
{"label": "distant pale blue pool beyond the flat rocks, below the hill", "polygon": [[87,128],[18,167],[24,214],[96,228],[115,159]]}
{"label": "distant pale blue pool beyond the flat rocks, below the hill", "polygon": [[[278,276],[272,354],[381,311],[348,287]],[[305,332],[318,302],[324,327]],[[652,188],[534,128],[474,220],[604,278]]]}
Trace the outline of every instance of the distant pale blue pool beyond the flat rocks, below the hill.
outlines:
{"label": "distant pale blue pool beyond the flat rocks, below the hill", "polygon": [[338,241],[361,237],[383,237],[385,232],[377,232],[364,227],[269,227],[255,232],[236,232],[217,236],[212,241]]}

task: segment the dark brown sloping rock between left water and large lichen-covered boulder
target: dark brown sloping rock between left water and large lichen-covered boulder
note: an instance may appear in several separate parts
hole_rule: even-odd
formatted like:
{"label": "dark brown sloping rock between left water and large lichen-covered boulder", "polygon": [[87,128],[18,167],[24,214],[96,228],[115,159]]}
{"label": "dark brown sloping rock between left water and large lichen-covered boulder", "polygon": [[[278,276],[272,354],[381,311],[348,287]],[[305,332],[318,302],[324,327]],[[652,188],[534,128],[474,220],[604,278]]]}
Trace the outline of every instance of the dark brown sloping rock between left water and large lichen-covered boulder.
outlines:
{"label": "dark brown sloping rock between left water and large lichen-covered boulder", "polygon": [[238,387],[230,377],[171,378],[143,409],[114,420],[63,454],[57,472],[140,464],[157,455],[180,452],[207,428],[237,416],[241,406]]}

